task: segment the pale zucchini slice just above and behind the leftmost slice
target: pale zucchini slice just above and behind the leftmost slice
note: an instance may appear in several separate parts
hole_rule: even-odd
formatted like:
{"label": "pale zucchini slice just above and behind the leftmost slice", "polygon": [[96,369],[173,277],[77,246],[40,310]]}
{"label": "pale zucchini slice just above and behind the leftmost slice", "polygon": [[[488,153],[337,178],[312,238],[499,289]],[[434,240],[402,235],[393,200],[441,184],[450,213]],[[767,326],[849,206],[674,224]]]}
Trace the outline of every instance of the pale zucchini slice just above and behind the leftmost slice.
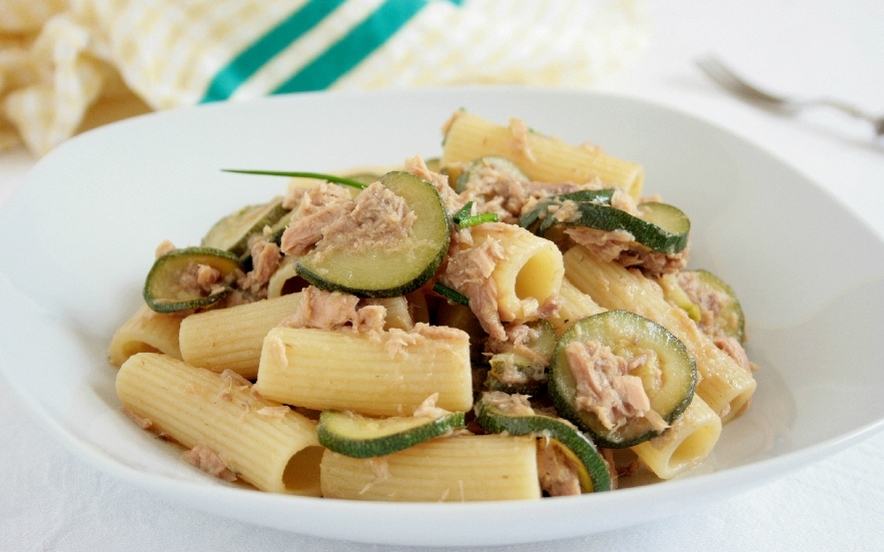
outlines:
{"label": "pale zucchini slice just above and behind the leftmost slice", "polygon": [[200,245],[247,256],[249,238],[261,234],[265,226],[272,227],[288,212],[282,206],[281,197],[260,205],[248,205],[216,222],[203,236]]}

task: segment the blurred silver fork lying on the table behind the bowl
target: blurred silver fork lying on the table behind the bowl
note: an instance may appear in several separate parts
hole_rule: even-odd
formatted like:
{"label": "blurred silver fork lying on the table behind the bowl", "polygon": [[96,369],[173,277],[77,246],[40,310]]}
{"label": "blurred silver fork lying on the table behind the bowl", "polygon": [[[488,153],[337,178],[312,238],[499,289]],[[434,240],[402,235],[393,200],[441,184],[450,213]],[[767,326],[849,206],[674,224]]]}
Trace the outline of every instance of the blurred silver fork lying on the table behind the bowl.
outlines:
{"label": "blurred silver fork lying on the table behind the bowl", "polygon": [[737,75],[732,69],[713,57],[697,60],[697,66],[712,80],[736,96],[782,113],[794,114],[806,107],[827,106],[853,117],[869,121],[878,136],[884,136],[884,116],[876,117],[852,105],[830,98],[789,98],[761,90]]}

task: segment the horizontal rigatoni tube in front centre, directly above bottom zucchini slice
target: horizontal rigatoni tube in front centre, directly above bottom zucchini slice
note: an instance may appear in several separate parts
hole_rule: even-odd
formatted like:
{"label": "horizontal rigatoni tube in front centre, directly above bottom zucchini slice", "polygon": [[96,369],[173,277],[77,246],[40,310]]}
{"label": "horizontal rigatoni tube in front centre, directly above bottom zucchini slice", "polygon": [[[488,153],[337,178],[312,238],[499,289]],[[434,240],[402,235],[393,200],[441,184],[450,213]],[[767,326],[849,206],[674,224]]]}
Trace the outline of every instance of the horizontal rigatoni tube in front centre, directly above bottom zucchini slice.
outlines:
{"label": "horizontal rigatoni tube in front centre, directly above bottom zucchini slice", "polygon": [[264,339],[255,389],[286,404],[375,416],[410,415],[439,393],[436,406],[467,411],[469,336],[426,324],[381,333],[274,328]]}

